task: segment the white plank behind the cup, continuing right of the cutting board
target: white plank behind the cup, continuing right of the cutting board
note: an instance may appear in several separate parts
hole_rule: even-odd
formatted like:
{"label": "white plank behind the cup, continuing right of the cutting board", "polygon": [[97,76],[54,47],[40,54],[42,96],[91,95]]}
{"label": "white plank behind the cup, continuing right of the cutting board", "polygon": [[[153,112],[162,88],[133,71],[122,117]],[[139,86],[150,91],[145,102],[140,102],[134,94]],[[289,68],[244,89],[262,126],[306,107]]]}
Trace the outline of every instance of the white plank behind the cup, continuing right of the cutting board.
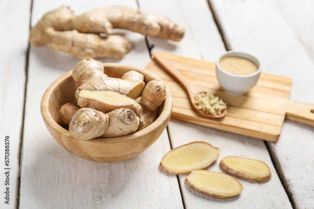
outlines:
{"label": "white plank behind the cup, continuing right of the cutting board", "polygon": [[[210,2],[216,13],[229,3],[227,0]],[[290,6],[291,1],[288,2]],[[302,3],[298,1],[296,4]],[[308,4],[303,6],[309,7]],[[301,13],[303,10],[294,17],[304,15]],[[314,64],[273,2],[232,3],[228,11],[219,16],[218,22],[230,49],[243,44],[240,47],[243,51],[251,52],[262,60],[264,72],[293,78],[290,100],[314,103]],[[307,31],[307,28],[303,30]],[[298,208],[313,207],[313,130],[309,126],[285,121],[279,141],[269,143]]]}

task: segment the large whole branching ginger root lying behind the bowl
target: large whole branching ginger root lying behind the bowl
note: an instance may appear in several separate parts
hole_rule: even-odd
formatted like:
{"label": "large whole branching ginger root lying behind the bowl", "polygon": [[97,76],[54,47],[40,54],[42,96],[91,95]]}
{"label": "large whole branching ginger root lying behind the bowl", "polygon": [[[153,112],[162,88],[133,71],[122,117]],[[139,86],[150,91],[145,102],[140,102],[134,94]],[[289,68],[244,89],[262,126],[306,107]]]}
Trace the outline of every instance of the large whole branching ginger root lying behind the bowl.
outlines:
{"label": "large whole branching ginger root lying behind the bowl", "polygon": [[[128,29],[144,35],[179,41],[184,28],[165,16],[143,14],[139,9],[97,8],[75,16],[67,6],[46,13],[30,31],[30,43],[48,44],[53,50],[71,53],[78,58],[122,58],[132,45],[120,35],[110,35],[113,28]],[[100,36],[108,34],[108,37]]]}

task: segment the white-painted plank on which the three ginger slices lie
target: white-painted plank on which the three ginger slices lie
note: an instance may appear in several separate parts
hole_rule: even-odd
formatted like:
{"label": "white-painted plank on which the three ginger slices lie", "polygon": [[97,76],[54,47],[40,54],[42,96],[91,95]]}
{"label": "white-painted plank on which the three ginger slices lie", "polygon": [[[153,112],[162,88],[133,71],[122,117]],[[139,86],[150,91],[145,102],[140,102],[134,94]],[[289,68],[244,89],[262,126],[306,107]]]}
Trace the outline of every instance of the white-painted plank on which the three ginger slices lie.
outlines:
{"label": "white-painted plank on which the three ginger slices lie", "polygon": [[[178,7],[173,8],[173,4],[177,5],[178,1],[139,1],[140,8],[144,12],[164,14],[187,29],[185,37],[179,43],[149,39],[150,43],[154,44],[152,52],[167,51],[195,59],[215,61],[216,57],[225,51],[225,47],[208,8],[208,3],[206,1],[180,2]],[[195,42],[190,44],[188,49],[186,47],[187,50],[182,50],[183,46],[193,37],[196,38]],[[172,148],[192,141],[206,141],[220,148],[219,160],[232,154],[260,159],[271,167],[273,174],[272,180],[265,184],[241,180],[244,185],[243,193],[228,200],[217,200],[192,192],[184,183],[186,176],[180,175],[186,208],[291,208],[262,140],[176,120],[171,120],[168,131]],[[221,171],[218,164],[219,161],[215,162],[208,170]]]}

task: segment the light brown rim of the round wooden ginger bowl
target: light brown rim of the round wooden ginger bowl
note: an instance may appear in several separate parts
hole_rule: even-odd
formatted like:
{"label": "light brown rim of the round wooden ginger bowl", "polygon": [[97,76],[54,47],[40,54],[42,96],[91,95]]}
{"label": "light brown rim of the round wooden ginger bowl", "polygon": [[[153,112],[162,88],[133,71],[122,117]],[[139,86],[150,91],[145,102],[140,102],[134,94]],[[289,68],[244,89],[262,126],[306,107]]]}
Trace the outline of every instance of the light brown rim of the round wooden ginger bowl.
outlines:
{"label": "light brown rim of the round wooden ginger bowl", "polygon": [[[160,79],[154,73],[152,73],[146,69],[142,69],[142,68],[135,67],[132,65],[125,65],[125,64],[120,64],[120,63],[103,63],[103,65],[104,65],[104,67],[112,67],[112,68],[120,68],[120,69],[124,68],[124,69],[135,70],[138,72],[144,72],[144,74],[150,74],[150,77],[152,77],[154,80],[162,81],[162,79]],[[57,133],[63,134],[68,138],[72,138],[73,140],[79,140],[77,138],[74,138],[67,129],[60,126],[57,123],[57,121],[55,121],[53,119],[51,112],[49,111],[49,107],[48,107],[49,98],[51,97],[52,92],[58,86],[59,83],[68,79],[68,77],[72,76],[72,71],[73,70],[68,71],[67,73],[58,77],[55,81],[53,81],[48,86],[48,88],[44,92],[42,99],[41,99],[41,115],[42,115],[43,120],[46,122],[46,124],[48,124]],[[126,136],[114,137],[114,138],[94,138],[94,139],[85,140],[85,142],[88,142],[88,143],[120,143],[120,142],[132,140],[132,139],[141,137],[143,135],[146,135],[148,133],[151,133],[155,128],[162,126],[163,123],[165,123],[165,120],[167,120],[167,118],[171,115],[172,106],[173,106],[173,98],[171,95],[171,91],[166,86],[166,98],[164,101],[164,108],[161,111],[158,118],[152,124],[150,124],[148,127],[144,128],[140,131],[137,131],[135,133],[131,133],[129,135],[126,135]],[[82,140],[79,140],[79,141],[82,141]]]}

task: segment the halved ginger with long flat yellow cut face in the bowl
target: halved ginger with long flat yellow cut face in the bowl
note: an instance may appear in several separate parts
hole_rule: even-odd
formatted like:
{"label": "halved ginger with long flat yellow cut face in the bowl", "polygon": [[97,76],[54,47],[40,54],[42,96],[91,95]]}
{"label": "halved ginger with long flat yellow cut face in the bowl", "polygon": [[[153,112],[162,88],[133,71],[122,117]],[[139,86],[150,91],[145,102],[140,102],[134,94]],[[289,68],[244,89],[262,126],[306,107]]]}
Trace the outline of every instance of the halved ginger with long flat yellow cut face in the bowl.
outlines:
{"label": "halved ginger with long flat yellow cut face in the bowl", "polygon": [[111,112],[118,108],[128,108],[138,116],[140,116],[142,109],[134,99],[114,91],[82,90],[78,97],[78,106],[90,107],[103,113]]}

